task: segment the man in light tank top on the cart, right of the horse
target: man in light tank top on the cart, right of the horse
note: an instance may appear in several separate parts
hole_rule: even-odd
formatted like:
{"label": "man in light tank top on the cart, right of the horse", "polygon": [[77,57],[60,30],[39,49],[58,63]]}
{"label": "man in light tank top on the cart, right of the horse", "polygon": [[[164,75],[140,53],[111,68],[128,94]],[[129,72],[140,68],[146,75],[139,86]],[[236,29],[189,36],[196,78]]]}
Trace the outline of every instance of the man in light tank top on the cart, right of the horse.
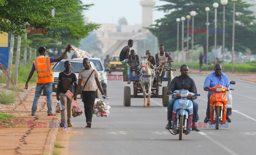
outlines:
{"label": "man in light tank top on the cart, right of the horse", "polygon": [[[164,79],[164,75],[165,75],[165,71],[167,69],[169,69],[169,67],[167,66],[167,63],[169,62],[173,62],[171,56],[167,53],[167,52],[164,52],[164,45],[161,44],[159,46],[159,53],[156,54],[156,65],[157,67],[162,65],[163,64],[163,67],[160,67],[161,69],[163,69],[162,71],[162,74],[160,75],[160,78],[158,79],[159,82],[158,82],[158,85],[159,86],[162,86],[162,82],[163,82],[163,79]],[[159,74],[161,73],[161,69],[159,70]]]}

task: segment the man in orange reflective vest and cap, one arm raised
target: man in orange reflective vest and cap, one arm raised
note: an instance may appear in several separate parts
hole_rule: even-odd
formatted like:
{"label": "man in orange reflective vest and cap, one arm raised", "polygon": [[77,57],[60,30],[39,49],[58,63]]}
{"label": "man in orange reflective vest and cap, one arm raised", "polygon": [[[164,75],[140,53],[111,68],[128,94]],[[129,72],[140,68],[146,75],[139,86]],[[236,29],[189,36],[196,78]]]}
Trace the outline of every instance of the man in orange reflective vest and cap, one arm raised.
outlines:
{"label": "man in orange reflective vest and cap, one arm raised", "polygon": [[37,82],[36,82],[36,91],[35,91],[35,97],[33,100],[33,105],[31,108],[31,116],[36,115],[36,109],[39,97],[44,89],[45,95],[46,95],[46,102],[47,102],[47,116],[55,116],[54,113],[52,113],[52,82],[53,82],[53,75],[52,75],[52,62],[59,62],[63,59],[63,57],[66,55],[66,53],[70,50],[71,46],[68,45],[65,52],[59,57],[59,58],[51,58],[46,57],[46,52],[49,51],[45,47],[41,46],[38,48],[39,56],[36,60],[33,61],[32,69],[29,72],[27,82],[25,84],[25,88],[28,89],[28,82],[31,79],[31,77],[34,74],[34,71],[36,70],[38,76],[37,76]]}

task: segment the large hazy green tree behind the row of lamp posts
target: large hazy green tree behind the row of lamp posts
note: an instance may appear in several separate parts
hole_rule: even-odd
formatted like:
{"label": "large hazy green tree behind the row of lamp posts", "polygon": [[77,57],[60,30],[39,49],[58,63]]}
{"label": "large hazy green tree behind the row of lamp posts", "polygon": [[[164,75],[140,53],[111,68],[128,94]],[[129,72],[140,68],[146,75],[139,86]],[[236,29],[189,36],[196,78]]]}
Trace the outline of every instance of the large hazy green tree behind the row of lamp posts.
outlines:
{"label": "large hazy green tree behind the row of lamp posts", "polygon": [[[159,43],[165,44],[166,51],[177,50],[177,22],[176,18],[186,17],[190,11],[196,11],[195,28],[206,28],[206,11],[205,7],[210,7],[209,11],[209,28],[214,28],[214,8],[212,4],[219,1],[179,1],[179,0],[163,0],[169,2],[162,6],[158,6],[159,11],[168,13],[164,18],[156,20],[155,28],[148,28],[154,35],[157,36]],[[248,7],[252,6],[238,0],[236,2],[236,25],[235,25],[235,50],[239,52],[245,52],[246,48],[250,48],[256,53],[256,27],[251,26],[250,23],[255,19],[252,11],[248,10]],[[233,15],[233,3],[229,2],[226,6],[226,28],[228,34],[225,36],[226,48],[231,50],[232,43],[232,15]],[[217,27],[222,29],[223,20],[223,6],[219,3],[218,7],[218,20]],[[186,23],[186,21],[185,21]],[[190,27],[191,20],[190,20]],[[185,33],[186,30],[185,24]],[[246,34],[246,37],[245,37]],[[181,33],[180,37],[181,38]],[[204,47],[204,53],[206,52],[206,34],[194,34],[194,44],[198,44]],[[186,45],[186,43],[185,43]],[[209,34],[209,47],[214,45],[214,34]],[[222,34],[217,34],[217,45],[222,45]]]}

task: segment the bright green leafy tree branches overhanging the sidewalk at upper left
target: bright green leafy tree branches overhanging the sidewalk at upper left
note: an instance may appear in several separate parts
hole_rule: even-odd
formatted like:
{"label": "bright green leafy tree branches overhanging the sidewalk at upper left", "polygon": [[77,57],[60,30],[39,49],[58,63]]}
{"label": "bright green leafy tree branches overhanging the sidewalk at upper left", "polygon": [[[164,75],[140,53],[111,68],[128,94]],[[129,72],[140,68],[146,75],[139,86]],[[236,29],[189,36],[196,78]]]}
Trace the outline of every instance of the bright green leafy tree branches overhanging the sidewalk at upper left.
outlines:
{"label": "bright green leafy tree branches overhanging the sidewalk at upper left", "polygon": [[[77,10],[86,10],[93,4],[82,5],[79,0],[9,0],[0,4],[0,32],[9,32],[14,36],[23,36],[25,28],[68,28],[68,35],[76,38],[84,38],[90,31],[98,29],[96,23],[86,23],[74,19],[60,19],[51,15],[50,10],[65,10],[66,13],[78,15]],[[60,34],[50,34],[57,38]]]}

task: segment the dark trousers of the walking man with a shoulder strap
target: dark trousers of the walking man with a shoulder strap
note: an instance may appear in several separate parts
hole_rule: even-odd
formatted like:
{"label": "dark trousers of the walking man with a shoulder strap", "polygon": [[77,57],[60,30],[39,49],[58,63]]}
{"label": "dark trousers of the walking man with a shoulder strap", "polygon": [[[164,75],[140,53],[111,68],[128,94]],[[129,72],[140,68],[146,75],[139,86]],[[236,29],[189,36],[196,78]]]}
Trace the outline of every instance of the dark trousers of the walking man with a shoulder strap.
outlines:
{"label": "dark trousers of the walking man with a shoulder strap", "polygon": [[93,104],[95,100],[96,91],[83,91],[84,114],[86,122],[92,122]]}

